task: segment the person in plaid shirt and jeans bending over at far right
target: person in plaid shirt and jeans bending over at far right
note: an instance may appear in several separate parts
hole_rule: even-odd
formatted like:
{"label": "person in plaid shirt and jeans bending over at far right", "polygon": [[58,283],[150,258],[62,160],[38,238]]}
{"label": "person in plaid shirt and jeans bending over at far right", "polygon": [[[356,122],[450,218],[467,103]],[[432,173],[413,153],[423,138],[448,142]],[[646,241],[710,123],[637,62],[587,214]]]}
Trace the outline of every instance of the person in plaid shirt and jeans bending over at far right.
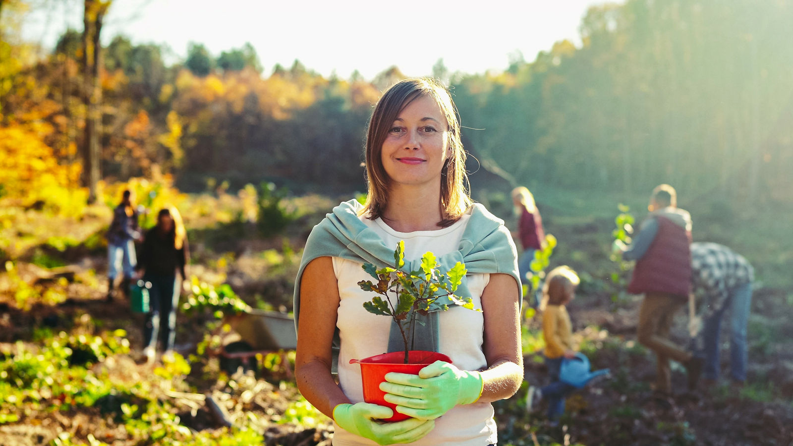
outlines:
{"label": "person in plaid shirt and jeans bending over at far right", "polygon": [[[730,309],[730,373],[736,386],[746,381],[746,323],[752,302],[754,268],[743,257],[722,244],[691,244],[691,282],[702,299],[702,330],[696,338],[705,356],[703,385],[718,379],[718,335],[722,317]],[[696,332],[698,319],[690,327]]]}

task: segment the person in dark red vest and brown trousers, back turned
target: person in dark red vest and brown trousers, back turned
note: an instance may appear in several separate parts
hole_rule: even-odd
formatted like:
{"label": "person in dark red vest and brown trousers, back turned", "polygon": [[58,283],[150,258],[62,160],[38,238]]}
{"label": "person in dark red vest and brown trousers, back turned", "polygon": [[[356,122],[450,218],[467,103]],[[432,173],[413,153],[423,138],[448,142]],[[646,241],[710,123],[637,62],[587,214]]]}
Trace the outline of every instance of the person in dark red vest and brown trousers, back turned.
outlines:
{"label": "person in dark red vest and brown trousers, back turned", "polygon": [[633,243],[619,242],[616,249],[624,260],[636,260],[628,292],[645,295],[636,334],[657,356],[655,391],[666,397],[672,394],[669,359],[686,367],[689,390],[696,386],[704,362],[668,337],[675,313],[691,294],[691,214],[677,207],[677,193],[668,184],[653,190],[647,209],[649,216]]}

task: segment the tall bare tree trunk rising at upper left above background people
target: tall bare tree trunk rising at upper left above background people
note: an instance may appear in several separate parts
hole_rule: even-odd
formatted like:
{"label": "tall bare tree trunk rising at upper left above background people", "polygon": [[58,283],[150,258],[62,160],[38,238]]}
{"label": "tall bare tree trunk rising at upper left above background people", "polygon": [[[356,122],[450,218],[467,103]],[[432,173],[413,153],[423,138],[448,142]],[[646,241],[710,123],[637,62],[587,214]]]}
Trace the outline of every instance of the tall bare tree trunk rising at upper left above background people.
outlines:
{"label": "tall bare tree trunk rising at upper left above background people", "polygon": [[82,71],[83,94],[86,103],[86,127],[82,139],[82,183],[88,187],[88,202],[97,199],[97,184],[101,178],[99,170],[99,135],[102,132],[102,87],[99,84],[99,67],[102,57],[102,19],[109,2],[85,0],[82,16]]}

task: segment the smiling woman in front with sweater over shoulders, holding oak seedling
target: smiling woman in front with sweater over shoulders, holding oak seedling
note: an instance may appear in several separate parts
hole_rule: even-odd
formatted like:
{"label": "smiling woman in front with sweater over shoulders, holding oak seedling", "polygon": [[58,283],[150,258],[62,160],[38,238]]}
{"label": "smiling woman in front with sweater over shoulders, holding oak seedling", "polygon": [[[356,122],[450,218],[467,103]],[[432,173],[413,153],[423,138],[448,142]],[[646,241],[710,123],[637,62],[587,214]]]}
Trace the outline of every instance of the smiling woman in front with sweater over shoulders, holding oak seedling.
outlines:
{"label": "smiling woman in front with sweater over shoulders, holding oak seedling", "polygon": [[[334,444],[495,444],[491,402],[523,380],[517,254],[504,222],[467,194],[445,88],[407,79],[385,92],[366,174],[366,203],[337,206],[306,243],[295,290],[301,393],[333,417]],[[379,390],[395,410],[364,402],[351,360],[408,350],[450,362],[386,374]],[[410,418],[381,422],[397,413]]]}

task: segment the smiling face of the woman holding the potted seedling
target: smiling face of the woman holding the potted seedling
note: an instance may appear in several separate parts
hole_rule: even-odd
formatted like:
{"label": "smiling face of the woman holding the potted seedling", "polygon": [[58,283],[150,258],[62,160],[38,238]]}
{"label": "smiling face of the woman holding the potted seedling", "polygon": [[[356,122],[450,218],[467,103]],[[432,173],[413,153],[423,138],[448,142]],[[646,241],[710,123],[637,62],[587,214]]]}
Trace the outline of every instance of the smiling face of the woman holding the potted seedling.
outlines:
{"label": "smiling face of the woman holding the potted seedling", "polygon": [[381,161],[393,184],[437,183],[450,156],[446,117],[433,98],[419,96],[402,110],[385,137]]}

